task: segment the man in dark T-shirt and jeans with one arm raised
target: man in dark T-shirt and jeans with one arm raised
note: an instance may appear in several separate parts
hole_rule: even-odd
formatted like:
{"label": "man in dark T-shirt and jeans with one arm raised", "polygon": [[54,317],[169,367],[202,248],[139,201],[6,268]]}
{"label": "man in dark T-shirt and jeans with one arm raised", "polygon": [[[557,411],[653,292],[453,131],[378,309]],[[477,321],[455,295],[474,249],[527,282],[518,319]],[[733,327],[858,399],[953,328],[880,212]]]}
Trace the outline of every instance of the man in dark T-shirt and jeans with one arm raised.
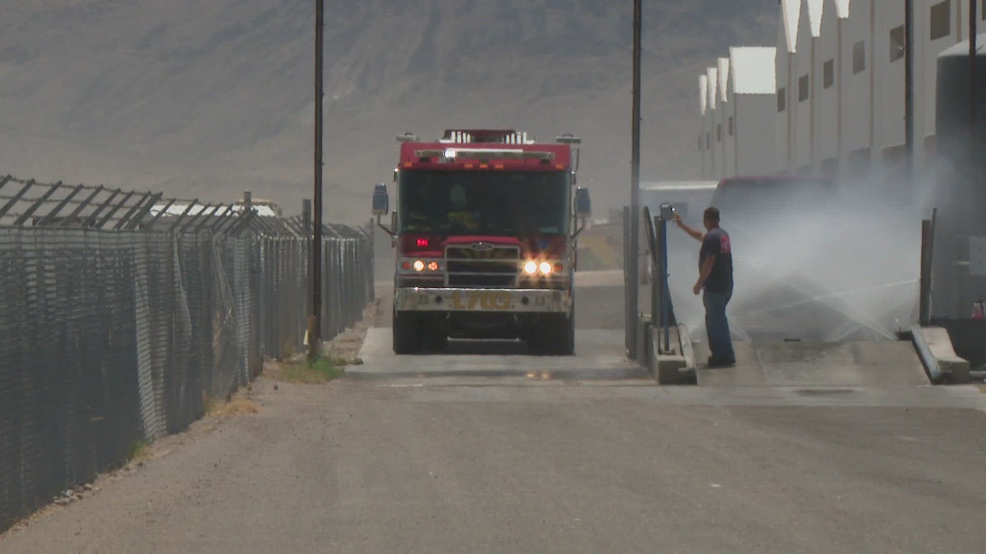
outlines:
{"label": "man in dark T-shirt and jeans with one arm raised", "polygon": [[696,231],[674,215],[674,223],[698,242],[702,248],[698,254],[698,281],[693,292],[697,296],[702,289],[705,305],[705,331],[709,335],[710,368],[725,368],[736,364],[730,323],[726,318],[726,305],[733,298],[733,247],[730,235],[719,227],[719,210],[706,208],[702,218],[706,233]]}

